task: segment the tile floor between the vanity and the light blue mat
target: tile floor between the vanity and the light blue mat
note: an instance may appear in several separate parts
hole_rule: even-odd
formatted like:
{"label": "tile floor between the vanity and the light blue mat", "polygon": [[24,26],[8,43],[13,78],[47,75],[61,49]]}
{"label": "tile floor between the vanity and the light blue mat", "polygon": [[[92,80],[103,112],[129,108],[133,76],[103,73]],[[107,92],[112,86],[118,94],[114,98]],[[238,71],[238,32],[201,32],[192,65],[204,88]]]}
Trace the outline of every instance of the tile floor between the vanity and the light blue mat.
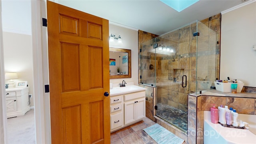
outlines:
{"label": "tile floor between the vanity and the light blue mat", "polygon": [[146,132],[144,128],[156,124],[149,118],[143,121],[111,133],[111,144],[157,144]]}

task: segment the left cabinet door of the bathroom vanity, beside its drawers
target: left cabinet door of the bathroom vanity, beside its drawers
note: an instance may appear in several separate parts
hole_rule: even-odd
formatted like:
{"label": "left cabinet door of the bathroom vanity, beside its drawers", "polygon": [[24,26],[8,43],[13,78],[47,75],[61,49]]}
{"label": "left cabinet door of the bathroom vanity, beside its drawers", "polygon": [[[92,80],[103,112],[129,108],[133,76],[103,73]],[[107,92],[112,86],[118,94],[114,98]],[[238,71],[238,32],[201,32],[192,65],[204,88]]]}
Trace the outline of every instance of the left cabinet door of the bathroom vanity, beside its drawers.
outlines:
{"label": "left cabinet door of the bathroom vanity, beside its drawers", "polygon": [[124,125],[134,122],[135,117],[135,101],[124,103]]}

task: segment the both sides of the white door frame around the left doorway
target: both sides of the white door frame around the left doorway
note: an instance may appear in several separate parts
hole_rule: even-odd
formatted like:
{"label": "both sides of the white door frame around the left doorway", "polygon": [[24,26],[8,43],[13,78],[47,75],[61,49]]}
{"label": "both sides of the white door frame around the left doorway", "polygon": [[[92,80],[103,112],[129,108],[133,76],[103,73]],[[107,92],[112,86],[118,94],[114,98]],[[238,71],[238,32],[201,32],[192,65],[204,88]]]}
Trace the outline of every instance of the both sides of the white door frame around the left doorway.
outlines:
{"label": "both sides of the white door frame around the left doorway", "polygon": [[[1,8],[1,0],[0,0]],[[1,9],[0,9],[1,10]],[[41,13],[42,12],[42,13]],[[1,12],[0,12],[1,14]],[[41,16],[42,15],[42,16]],[[49,93],[44,93],[44,85],[49,84],[47,28],[41,25],[46,18],[46,1],[31,0],[32,54],[34,78],[34,113],[37,144],[50,144],[50,101]],[[0,143],[7,142],[6,98],[4,80],[4,48],[2,44],[2,20],[0,20]]]}

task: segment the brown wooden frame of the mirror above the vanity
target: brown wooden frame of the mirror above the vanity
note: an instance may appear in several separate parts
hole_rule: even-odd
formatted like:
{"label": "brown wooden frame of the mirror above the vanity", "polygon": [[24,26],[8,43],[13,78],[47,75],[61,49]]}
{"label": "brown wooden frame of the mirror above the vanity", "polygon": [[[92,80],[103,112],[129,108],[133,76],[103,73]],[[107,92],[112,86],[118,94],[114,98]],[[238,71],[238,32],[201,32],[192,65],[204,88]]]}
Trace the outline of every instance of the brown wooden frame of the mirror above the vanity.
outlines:
{"label": "brown wooden frame of the mirror above the vanity", "polygon": [[110,79],[115,79],[115,78],[131,78],[132,77],[132,50],[128,49],[122,49],[122,48],[109,48],[109,51],[111,52],[127,52],[128,53],[128,74],[126,75],[110,75]]}

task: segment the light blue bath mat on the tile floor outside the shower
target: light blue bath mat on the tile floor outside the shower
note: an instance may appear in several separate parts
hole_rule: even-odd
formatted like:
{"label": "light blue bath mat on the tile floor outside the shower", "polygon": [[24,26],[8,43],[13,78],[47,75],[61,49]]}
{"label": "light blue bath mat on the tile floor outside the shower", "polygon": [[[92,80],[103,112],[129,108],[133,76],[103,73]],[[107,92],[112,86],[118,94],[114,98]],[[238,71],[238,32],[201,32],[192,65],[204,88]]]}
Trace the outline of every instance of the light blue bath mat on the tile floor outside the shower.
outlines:
{"label": "light blue bath mat on the tile floor outside the shower", "polygon": [[159,124],[154,124],[148,128],[145,128],[144,131],[158,144],[182,144],[184,142],[184,140],[169,130],[166,130]]}

